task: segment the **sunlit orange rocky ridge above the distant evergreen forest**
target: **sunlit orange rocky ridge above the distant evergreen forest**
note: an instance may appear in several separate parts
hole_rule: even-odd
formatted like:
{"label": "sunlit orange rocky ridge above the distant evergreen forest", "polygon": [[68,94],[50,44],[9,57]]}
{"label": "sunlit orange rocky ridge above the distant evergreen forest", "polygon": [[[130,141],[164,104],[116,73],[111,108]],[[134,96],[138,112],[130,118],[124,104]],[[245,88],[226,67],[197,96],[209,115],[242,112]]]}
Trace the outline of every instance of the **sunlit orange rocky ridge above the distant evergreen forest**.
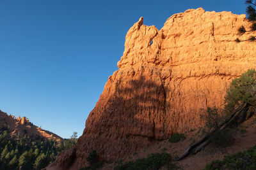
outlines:
{"label": "sunlit orange rocky ridge above the distant evergreen forest", "polygon": [[27,134],[28,136],[31,136],[36,140],[40,140],[41,138],[53,138],[58,143],[63,141],[63,138],[61,138],[57,134],[54,134],[50,131],[45,131],[44,129],[37,127],[36,125],[33,125],[33,123],[29,122],[28,118],[26,117],[15,118],[13,115],[8,115],[7,113],[4,113],[0,110],[0,129],[3,127],[4,124],[10,127],[10,133],[13,136],[24,136],[25,134]]}

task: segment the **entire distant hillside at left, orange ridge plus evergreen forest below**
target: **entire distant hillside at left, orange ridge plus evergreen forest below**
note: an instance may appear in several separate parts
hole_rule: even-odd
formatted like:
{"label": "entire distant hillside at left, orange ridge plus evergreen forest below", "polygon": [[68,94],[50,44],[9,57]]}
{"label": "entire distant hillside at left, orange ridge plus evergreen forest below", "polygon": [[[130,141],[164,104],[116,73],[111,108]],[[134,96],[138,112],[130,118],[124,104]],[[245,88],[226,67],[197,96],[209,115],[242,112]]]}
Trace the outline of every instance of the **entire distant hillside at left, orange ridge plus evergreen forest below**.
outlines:
{"label": "entire distant hillside at left, orange ridge plus evergreen forest below", "polygon": [[15,118],[0,111],[0,169],[42,169],[62,150],[76,145],[76,138],[76,132],[70,139],[62,139],[26,117]]}

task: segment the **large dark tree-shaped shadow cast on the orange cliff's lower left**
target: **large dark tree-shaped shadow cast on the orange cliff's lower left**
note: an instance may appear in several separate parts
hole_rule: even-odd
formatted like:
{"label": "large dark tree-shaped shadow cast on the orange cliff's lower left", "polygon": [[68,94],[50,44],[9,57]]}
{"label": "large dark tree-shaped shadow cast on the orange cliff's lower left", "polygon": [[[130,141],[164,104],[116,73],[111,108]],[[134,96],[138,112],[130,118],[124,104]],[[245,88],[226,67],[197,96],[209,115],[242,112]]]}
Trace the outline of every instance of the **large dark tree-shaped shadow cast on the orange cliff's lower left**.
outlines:
{"label": "large dark tree-shaped shadow cast on the orange cliff's lower left", "polygon": [[[147,147],[163,139],[166,94],[160,83],[145,76],[116,84],[107,101],[99,100],[86,121],[86,145],[104,160]],[[82,140],[79,140],[79,142]],[[78,143],[79,143],[78,142]]]}

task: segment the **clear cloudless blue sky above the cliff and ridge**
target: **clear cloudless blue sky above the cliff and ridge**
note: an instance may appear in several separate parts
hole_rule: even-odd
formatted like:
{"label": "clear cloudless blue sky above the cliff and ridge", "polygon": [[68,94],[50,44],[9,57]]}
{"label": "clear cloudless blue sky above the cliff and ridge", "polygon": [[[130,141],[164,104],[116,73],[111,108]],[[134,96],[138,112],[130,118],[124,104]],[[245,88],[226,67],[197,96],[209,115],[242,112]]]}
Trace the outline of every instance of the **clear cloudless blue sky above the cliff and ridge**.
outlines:
{"label": "clear cloudless blue sky above the cliff and ridge", "polygon": [[245,11],[243,0],[1,0],[0,110],[80,136],[134,22],[143,16],[161,29],[174,13],[199,7]]}

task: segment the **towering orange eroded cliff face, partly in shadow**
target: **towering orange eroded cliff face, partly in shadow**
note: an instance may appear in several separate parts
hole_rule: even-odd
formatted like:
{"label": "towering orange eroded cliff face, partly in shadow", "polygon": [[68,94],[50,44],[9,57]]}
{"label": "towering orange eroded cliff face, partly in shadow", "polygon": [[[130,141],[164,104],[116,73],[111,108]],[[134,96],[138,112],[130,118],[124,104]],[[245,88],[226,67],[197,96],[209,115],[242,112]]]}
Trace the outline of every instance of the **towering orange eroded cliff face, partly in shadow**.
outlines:
{"label": "towering orange eroded cliff face, partly in shadow", "polygon": [[255,43],[234,41],[252,35],[238,36],[241,25],[250,25],[245,15],[202,8],[173,15],[161,30],[140,18],[127,32],[119,69],[87,118],[75,155],[68,152],[73,161],[61,163],[63,153],[49,169],[87,166],[92,150],[115,160],[202,125],[202,109],[221,107],[230,81],[256,66]]}

